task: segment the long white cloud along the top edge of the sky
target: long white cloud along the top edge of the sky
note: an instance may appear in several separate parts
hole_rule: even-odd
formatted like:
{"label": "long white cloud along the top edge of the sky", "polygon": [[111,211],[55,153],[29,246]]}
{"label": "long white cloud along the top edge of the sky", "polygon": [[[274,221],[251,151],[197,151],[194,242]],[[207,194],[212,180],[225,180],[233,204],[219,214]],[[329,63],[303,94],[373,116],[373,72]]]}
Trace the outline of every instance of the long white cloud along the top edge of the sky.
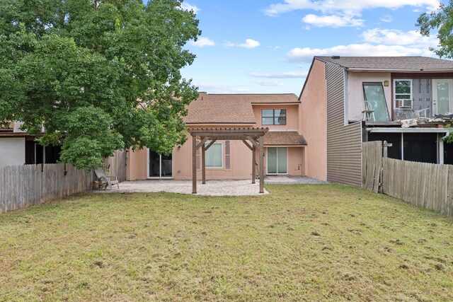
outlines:
{"label": "long white cloud along the top edge of the sky", "polygon": [[365,9],[396,9],[403,6],[415,6],[433,11],[439,5],[440,1],[438,0],[284,0],[282,3],[271,4],[265,8],[264,13],[268,16],[278,16],[281,13],[299,9],[312,9],[323,13],[338,11],[360,13]]}

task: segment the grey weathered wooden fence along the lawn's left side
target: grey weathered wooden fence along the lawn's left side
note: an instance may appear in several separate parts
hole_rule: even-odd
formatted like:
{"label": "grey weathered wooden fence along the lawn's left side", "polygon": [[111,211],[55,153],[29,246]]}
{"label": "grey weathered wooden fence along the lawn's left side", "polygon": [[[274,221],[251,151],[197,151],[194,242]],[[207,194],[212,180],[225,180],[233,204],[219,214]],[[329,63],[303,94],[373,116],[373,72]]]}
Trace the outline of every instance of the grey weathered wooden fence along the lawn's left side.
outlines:
{"label": "grey weathered wooden fence along the lawn's left side", "polygon": [[0,167],[0,213],[91,189],[93,173],[63,163]]}

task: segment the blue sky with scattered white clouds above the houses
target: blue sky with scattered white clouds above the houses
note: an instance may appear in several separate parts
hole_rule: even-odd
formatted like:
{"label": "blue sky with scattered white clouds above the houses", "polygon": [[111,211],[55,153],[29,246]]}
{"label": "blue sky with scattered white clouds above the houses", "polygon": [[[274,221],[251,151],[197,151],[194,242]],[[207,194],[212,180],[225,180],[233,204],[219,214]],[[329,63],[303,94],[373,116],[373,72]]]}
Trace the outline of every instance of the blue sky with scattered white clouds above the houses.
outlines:
{"label": "blue sky with scattered white clouds above the houses", "polygon": [[415,27],[437,0],[186,0],[202,35],[182,70],[207,93],[299,95],[317,56],[430,56]]}

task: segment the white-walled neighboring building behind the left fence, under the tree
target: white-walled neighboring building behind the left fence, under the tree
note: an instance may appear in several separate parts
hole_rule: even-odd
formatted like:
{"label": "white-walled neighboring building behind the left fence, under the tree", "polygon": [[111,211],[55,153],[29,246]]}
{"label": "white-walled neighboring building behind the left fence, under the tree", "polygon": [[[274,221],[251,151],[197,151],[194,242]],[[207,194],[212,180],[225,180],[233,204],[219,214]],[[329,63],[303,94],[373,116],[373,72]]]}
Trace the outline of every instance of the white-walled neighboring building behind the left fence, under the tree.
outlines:
{"label": "white-walled neighboring building behind the left fence, under the tree", "polygon": [[42,146],[35,137],[21,129],[20,122],[11,122],[6,129],[0,129],[0,167],[36,163],[57,163],[59,146]]}

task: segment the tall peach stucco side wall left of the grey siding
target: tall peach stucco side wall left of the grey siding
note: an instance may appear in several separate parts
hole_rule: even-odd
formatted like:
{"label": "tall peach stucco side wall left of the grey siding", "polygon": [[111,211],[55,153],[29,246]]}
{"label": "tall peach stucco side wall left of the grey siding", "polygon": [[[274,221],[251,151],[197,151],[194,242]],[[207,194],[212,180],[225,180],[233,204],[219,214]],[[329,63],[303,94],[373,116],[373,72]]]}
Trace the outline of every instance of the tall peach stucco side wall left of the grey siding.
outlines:
{"label": "tall peach stucco side wall left of the grey siding", "polygon": [[305,149],[305,174],[327,180],[327,93],[323,62],[314,60],[302,93],[301,129],[308,146]]}

